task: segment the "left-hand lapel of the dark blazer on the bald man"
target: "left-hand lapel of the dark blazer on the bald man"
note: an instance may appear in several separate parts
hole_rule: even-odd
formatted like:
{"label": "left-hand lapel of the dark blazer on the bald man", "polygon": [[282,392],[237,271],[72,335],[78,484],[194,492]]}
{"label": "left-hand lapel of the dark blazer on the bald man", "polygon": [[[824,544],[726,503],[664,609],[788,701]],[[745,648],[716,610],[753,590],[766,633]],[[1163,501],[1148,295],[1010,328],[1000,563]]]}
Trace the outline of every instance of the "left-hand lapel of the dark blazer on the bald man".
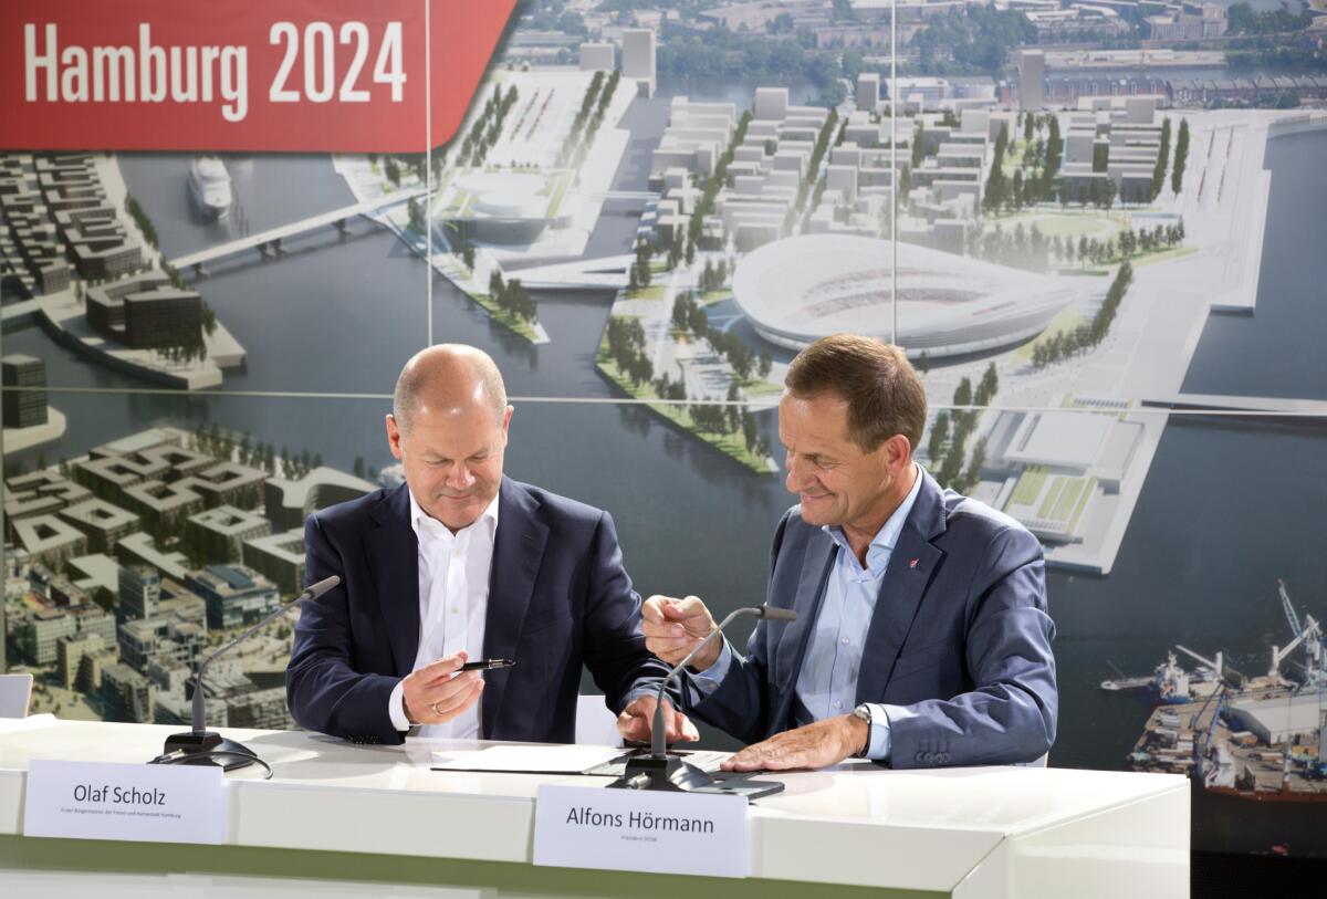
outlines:
{"label": "left-hand lapel of the dark blazer on the bald man", "polygon": [[402,484],[382,497],[372,512],[378,528],[365,538],[391,660],[401,676],[414,670],[419,651],[419,541],[410,526],[409,489]]}

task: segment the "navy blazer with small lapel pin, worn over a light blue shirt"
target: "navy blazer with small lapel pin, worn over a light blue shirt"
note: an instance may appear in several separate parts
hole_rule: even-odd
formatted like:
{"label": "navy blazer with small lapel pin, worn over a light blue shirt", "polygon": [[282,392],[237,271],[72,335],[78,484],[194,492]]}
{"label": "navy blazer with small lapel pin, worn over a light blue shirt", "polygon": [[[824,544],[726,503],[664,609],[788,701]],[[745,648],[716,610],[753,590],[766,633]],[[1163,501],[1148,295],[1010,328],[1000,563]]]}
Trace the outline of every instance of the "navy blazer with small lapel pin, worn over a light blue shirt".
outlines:
{"label": "navy blazer with small lapel pin, worn over a light blue shirt", "polygon": [[[1058,708],[1042,546],[1009,516],[921,477],[867,631],[857,701],[908,707],[890,723],[894,768],[1034,761],[1055,741]],[[835,548],[788,509],[767,602],[798,621],[760,622],[747,658],[734,654],[723,682],[690,704],[697,717],[747,743],[795,727]]]}

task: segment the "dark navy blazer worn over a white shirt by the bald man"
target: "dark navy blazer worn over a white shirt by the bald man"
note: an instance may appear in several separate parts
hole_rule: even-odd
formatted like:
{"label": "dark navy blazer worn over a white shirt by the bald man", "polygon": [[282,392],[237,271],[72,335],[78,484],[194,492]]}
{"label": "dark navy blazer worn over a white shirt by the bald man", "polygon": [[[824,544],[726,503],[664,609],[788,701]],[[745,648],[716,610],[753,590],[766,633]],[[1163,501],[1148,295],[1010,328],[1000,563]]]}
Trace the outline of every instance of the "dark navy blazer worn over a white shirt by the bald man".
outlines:
{"label": "dark navy blazer worn over a white shirt by the bald man", "polygon": [[[402,484],[322,509],[304,526],[305,603],[285,691],[300,725],[357,743],[401,743],[387,701],[419,646],[419,553]],[[480,699],[486,740],[573,743],[581,663],[614,709],[667,668],[645,648],[641,598],[606,512],[503,477],[488,581]],[[474,651],[471,652],[474,654]]]}

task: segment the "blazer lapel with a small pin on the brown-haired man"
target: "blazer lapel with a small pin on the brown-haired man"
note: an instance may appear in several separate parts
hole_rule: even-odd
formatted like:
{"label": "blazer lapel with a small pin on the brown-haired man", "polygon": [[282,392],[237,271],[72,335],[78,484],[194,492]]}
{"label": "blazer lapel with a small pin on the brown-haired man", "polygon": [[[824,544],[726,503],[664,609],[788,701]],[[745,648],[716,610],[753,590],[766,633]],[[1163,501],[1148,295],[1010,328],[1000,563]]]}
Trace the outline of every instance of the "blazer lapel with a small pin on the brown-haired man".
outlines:
{"label": "blazer lapel with a small pin on the brown-haired man", "polygon": [[945,530],[943,495],[930,475],[922,469],[918,472],[921,491],[889,557],[867,630],[867,647],[857,675],[859,703],[876,703],[884,696],[917,609],[945,557],[943,550],[932,544]]}

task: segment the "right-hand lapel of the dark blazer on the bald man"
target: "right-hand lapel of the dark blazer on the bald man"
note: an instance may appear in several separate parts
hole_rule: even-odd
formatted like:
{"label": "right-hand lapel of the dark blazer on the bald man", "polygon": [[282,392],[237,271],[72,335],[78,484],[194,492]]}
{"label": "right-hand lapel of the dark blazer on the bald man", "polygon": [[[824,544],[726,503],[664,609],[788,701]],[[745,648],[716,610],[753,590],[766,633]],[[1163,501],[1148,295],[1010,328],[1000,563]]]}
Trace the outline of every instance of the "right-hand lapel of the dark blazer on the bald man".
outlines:
{"label": "right-hand lapel of the dark blazer on the bald man", "polygon": [[[488,575],[488,613],[484,617],[484,658],[514,659],[525,609],[548,542],[548,525],[536,517],[539,504],[520,484],[502,479],[498,493],[498,533]],[[535,659],[527,659],[533,664]],[[510,672],[486,678],[483,736],[494,732],[507,692]]]}

